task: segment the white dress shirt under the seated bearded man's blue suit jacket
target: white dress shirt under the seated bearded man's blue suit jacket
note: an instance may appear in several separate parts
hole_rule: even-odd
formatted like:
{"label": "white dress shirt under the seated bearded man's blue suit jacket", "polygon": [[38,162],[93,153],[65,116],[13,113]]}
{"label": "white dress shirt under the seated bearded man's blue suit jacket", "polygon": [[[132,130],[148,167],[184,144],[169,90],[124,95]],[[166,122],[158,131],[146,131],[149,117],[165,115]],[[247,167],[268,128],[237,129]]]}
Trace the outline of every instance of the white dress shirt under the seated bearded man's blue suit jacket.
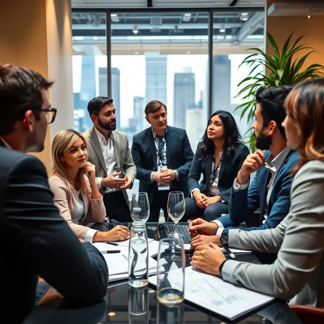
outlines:
{"label": "white dress shirt under the seated bearded man's blue suit jacket", "polygon": [[[267,199],[264,203],[265,213],[264,213],[264,220],[262,221],[262,224],[264,224],[266,222],[267,217],[268,217],[267,210],[268,210],[268,204],[270,201],[271,192],[273,189],[274,179],[276,178],[278,171],[279,171],[280,167],[282,166],[282,164],[284,163],[284,160],[287,157],[287,155],[289,154],[289,152],[290,152],[290,148],[285,147],[275,158],[272,156],[272,154],[270,154],[264,162],[265,167],[271,172],[271,179],[267,186],[268,193],[267,193]],[[245,184],[239,185],[237,183],[237,178],[234,180],[234,184],[233,184],[234,191],[246,190],[248,187],[249,187],[249,181]],[[223,224],[217,219],[215,219],[212,222],[214,222],[218,225],[218,230],[216,232],[216,235],[221,235],[224,230]]]}

